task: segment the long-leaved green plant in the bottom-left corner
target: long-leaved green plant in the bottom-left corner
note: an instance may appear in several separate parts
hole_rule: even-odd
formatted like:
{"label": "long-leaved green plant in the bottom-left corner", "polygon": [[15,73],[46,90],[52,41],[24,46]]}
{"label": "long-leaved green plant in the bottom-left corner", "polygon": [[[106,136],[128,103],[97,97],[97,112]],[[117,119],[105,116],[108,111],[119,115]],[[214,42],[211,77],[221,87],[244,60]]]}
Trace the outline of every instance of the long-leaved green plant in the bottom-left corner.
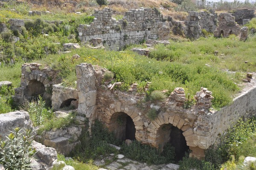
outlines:
{"label": "long-leaved green plant in the bottom-left corner", "polygon": [[26,170],[35,154],[31,146],[34,136],[32,130],[16,127],[5,141],[0,141],[0,164],[6,170]]}

